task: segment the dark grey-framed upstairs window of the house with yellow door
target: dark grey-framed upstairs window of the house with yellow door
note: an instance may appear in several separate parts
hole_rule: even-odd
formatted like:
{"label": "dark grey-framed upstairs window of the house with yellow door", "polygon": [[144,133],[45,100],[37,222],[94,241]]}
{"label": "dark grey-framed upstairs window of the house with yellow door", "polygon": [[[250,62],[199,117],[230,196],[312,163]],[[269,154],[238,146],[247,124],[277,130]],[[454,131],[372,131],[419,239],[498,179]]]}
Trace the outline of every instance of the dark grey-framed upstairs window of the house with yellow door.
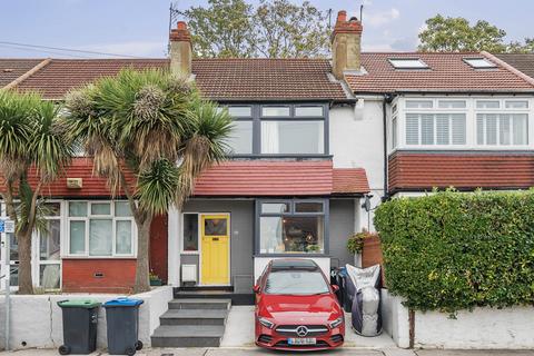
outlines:
{"label": "dark grey-framed upstairs window of the house with yellow door", "polygon": [[233,105],[230,155],[326,155],[327,106]]}

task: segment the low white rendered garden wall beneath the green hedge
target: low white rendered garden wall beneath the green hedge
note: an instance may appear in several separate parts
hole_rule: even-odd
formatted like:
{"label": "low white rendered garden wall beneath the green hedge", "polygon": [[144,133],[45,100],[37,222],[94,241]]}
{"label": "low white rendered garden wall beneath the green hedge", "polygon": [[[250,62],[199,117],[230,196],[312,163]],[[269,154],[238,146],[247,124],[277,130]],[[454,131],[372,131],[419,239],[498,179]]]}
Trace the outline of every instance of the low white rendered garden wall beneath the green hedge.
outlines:
{"label": "low white rendered garden wall beneath the green hedge", "polygon": [[[384,330],[399,347],[409,346],[408,309],[402,298],[382,289]],[[449,349],[531,349],[534,348],[534,307],[475,308],[447,313],[416,312],[414,346]]]}

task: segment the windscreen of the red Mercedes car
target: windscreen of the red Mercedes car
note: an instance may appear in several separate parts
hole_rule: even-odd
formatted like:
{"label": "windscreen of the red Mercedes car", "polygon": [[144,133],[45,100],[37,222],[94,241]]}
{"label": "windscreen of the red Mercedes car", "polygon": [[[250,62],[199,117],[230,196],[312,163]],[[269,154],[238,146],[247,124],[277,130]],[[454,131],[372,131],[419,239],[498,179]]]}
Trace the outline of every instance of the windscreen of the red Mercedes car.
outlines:
{"label": "windscreen of the red Mercedes car", "polygon": [[271,271],[265,283],[266,294],[316,295],[328,293],[328,285],[320,271],[284,270]]}

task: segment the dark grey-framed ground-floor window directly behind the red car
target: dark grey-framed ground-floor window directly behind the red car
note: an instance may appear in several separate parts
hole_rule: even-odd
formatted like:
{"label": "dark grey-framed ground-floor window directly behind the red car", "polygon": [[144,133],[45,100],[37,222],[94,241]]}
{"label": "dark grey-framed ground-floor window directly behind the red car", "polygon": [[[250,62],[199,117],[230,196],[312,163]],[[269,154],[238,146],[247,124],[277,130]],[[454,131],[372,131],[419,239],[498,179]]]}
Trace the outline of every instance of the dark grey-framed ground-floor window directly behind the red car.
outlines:
{"label": "dark grey-framed ground-floor window directly behind the red car", "polygon": [[258,200],[258,253],[326,254],[328,200]]}

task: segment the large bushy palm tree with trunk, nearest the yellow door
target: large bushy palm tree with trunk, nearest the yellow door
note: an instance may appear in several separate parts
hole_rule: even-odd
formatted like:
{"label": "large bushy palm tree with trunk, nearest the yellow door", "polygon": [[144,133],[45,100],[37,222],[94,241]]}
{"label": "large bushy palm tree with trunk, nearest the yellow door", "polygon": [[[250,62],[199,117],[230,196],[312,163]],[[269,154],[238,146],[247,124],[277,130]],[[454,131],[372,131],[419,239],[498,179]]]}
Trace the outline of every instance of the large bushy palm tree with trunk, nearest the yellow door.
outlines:
{"label": "large bushy palm tree with trunk, nearest the yellow door", "polygon": [[149,290],[152,217],[181,206],[195,178],[225,158],[230,117],[160,70],[125,69],[71,92],[66,107],[65,130],[92,156],[112,195],[129,200],[138,229],[135,293]]}

